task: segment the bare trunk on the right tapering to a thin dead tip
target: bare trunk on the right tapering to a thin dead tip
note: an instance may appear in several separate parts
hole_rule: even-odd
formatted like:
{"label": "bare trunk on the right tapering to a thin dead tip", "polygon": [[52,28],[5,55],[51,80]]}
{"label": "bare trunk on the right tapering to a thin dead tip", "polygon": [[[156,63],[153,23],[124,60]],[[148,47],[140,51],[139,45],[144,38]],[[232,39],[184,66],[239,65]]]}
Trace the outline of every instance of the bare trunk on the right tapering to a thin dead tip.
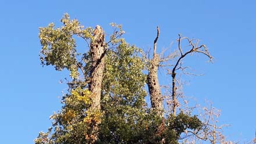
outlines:
{"label": "bare trunk on the right tapering to a thin dead tip", "polygon": [[154,55],[150,62],[150,69],[148,71],[147,84],[150,91],[151,107],[157,111],[159,116],[162,117],[163,111],[163,99],[161,95],[161,89],[158,83],[157,70],[159,66],[159,56],[157,54],[157,39],[159,36],[159,28],[157,27],[157,37],[154,41]]}

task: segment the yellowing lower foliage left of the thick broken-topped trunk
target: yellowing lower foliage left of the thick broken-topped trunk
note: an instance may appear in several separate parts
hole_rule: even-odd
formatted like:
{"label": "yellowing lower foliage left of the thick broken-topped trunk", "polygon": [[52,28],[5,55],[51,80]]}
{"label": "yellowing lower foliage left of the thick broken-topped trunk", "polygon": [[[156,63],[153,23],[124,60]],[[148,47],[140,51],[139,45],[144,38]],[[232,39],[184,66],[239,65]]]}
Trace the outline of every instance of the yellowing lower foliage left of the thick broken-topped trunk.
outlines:
{"label": "yellowing lower foliage left of the thick broken-topped trunk", "polygon": [[[51,131],[41,132],[35,142],[90,143],[95,138],[91,128],[99,123],[101,118],[99,111],[87,110],[91,105],[91,96],[88,89],[72,89],[70,94],[63,98],[62,110],[51,116],[54,120],[54,133],[49,136]],[[48,142],[44,142],[45,138]]]}

